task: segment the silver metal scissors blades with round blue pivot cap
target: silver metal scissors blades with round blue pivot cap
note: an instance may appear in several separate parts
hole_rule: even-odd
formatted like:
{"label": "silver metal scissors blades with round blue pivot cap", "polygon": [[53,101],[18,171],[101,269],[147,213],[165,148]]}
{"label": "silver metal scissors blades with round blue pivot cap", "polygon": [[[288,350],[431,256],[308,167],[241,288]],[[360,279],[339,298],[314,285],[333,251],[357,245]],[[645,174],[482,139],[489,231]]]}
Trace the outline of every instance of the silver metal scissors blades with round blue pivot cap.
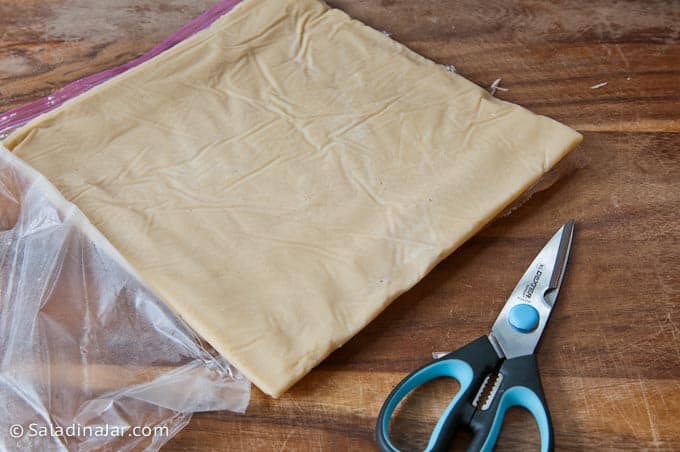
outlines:
{"label": "silver metal scissors blades with round blue pivot cap", "polygon": [[512,291],[489,338],[506,358],[530,355],[541,339],[567,268],[574,221],[567,221],[534,258]]}

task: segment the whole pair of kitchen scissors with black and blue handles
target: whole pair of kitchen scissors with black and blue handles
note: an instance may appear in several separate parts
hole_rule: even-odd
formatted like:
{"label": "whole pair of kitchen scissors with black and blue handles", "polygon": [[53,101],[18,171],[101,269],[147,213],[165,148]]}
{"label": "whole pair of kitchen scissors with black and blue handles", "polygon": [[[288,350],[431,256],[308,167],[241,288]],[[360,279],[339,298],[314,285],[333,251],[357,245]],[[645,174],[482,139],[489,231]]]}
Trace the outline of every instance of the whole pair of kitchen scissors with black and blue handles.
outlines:
{"label": "whole pair of kitchen scissors with black and blue handles", "polygon": [[[397,451],[389,438],[389,424],[399,402],[440,377],[455,378],[460,389],[439,418],[426,451],[447,450],[460,429],[473,434],[468,452],[493,450],[505,412],[514,406],[528,410],[538,423],[541,451],[553,450],[552,423],[534,349],[560,291],[573,233],[574,222],[569,220],[538,253],[488,336],[426,364],[392,390],[378,415],[376,439],[381,450]],[[489,390],[486,386],[493,376],[497,377]]]}

